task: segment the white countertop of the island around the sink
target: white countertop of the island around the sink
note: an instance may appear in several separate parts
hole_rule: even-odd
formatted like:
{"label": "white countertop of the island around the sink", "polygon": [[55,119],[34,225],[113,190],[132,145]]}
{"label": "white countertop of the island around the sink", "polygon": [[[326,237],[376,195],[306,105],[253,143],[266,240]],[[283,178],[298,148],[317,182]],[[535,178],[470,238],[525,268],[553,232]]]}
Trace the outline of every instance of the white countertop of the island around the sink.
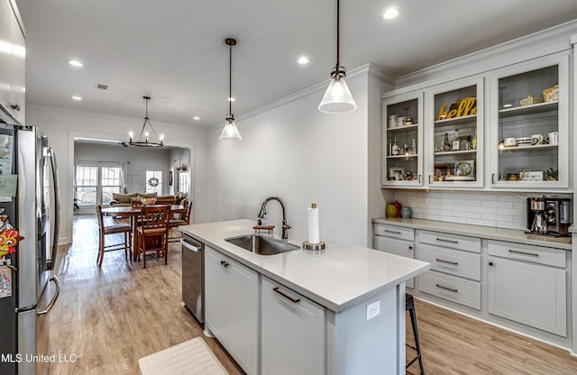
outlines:
{"label": "white countertop of the island around the sink", "polygon": [[[430,268],[426,261],[331,241],[325,241],[323,251],[307,251],[302,249],[306,236],[292,230],[288,242],[300,245],[301,249],[276,255],[255,254],[224,241],[228,237],[254,233],[255,224],[245,219],[183,225],[179,229],[335,313]],[[272,237],[279,238],[279,233]]]}

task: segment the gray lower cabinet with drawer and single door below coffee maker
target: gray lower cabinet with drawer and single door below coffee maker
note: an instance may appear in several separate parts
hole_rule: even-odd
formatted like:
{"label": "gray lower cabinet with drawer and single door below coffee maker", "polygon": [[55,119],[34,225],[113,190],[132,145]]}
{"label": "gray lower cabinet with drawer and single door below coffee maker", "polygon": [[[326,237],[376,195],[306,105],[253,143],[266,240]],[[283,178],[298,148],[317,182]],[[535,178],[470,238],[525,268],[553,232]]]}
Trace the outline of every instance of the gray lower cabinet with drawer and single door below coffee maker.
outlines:
{"label": "gray lower cabinet with drawer and single door below coffee maker", "polygon": [[489,255],[489,313],[567,337],[564,251],[490,241]]}

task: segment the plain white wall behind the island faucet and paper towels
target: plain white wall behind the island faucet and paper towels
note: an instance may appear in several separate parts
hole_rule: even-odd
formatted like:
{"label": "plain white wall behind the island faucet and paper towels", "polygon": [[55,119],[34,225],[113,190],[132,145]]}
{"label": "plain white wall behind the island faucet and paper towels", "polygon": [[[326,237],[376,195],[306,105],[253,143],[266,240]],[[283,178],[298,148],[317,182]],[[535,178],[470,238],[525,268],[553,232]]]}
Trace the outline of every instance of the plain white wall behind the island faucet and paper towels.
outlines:
{"label": "plain white wall behind the island faucet and paper towels", "polygon": [[[307,207],[316,202],[321,239],[366,245],[368,76],[367,66],[347,77],[353,113],[319,112],[323,84],[241,117],[242,142],[219,141],[221,127],[209,133],[210,220],[256,218],[262,201],[278,196],[289,224],[307,233]],[[270,202],[267,211],[279,231],[279,205]]]}

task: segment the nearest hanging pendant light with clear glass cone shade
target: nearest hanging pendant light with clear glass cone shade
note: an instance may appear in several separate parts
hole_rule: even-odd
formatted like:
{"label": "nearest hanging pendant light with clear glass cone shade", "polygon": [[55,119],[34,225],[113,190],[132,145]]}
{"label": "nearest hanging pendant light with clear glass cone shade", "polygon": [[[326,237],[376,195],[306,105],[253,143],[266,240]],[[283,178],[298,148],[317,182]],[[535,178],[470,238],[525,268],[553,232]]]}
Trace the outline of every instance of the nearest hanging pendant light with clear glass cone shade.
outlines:
{"label": "nearest hanging pendant light with clear glass cone shade", "polygon": [[340,4],[336,0],[336,65],[331,71],[331,82],[325,91],[325,96],[318,105],[318,110],[326,114],[346,114],[357,109],[351,90],[344,82],[346,73],[344,67],[339,61],[339,23],[340,23]]}

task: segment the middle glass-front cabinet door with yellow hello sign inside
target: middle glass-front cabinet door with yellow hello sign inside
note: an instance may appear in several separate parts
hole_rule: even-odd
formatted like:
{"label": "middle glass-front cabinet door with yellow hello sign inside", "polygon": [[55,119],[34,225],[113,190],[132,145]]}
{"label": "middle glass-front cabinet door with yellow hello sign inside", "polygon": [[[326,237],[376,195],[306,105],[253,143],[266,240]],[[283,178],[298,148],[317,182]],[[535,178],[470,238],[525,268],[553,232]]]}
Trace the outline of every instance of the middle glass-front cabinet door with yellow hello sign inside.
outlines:
{"label": "middle glass-front cabinet door with yellow hello sign inside", "polygon": [[483,78],[433,87],[425,100],[428,186],[481,188]]}

